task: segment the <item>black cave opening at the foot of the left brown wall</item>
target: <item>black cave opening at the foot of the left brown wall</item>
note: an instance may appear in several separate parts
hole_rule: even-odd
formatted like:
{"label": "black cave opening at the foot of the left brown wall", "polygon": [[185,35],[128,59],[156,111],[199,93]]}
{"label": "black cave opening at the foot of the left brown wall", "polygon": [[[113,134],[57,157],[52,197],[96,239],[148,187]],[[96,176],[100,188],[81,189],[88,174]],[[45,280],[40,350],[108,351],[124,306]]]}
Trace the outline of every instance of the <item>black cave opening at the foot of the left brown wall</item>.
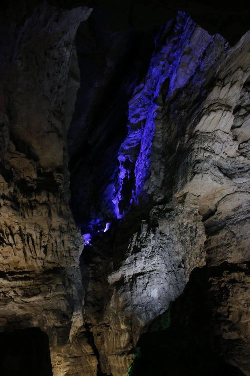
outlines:
{"label": "black cave opening at the foot of the left brown wall", "polygon": [[52,376],[49,339],[39,328],[0,333],[1,376]]}

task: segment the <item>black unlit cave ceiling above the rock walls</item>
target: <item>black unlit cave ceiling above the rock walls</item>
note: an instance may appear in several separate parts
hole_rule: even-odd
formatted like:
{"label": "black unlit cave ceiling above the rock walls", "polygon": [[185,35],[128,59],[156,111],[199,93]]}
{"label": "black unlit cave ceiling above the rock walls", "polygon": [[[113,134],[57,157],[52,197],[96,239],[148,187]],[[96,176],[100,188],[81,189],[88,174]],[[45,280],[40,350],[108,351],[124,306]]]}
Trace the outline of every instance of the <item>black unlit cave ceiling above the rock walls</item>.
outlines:
{"label": "black unlit cave ceiling above the rock walls", "polygon": [[[19,22],[25,21],[41,2],[42,0],[2,0],[2,20],[6,23],[11,17]],[[249,29],[250,5],[246,0],[231,3],[216,0],[48,0],[48,3],[68,9],[79,6],[103,7],[113,32],[130,28],[149,30],[174,18],[177,11],[190,14],[210,34],[219,33],[232,45]],[[12,11],[13,6],[15,12]]]}

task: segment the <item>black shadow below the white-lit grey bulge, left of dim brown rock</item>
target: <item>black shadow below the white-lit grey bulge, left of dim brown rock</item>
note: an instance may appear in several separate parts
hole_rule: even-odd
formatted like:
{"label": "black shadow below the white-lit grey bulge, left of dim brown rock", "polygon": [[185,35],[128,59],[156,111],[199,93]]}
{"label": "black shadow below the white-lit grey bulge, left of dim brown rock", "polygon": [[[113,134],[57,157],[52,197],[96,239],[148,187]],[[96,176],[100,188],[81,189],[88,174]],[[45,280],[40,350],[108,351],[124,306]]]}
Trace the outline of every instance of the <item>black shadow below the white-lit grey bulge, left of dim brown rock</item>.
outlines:
{"label": "black shadow below the white-lit grey bulge, left of dim brown rock", "polygon": [[217,297],[210,291],[209,280],[222,276],[228,269],[224,264],[194,269],[170,312],[156,318],[150,331],[140,337],[129,376],[243,376],[226,363],[226,349],[215,330]]}

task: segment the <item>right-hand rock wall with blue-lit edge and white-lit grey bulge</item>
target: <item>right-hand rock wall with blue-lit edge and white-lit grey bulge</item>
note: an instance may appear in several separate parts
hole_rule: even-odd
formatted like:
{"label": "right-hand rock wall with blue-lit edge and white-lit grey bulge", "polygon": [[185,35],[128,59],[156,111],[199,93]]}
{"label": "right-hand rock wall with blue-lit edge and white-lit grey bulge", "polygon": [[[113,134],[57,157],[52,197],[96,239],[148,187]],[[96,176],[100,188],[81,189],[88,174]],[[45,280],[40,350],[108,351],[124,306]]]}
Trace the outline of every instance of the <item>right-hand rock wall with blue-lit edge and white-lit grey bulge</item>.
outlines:
{"label": "right-hand rock wall with blue-lit edge and white-lit grey bulge", "polygon": [[[128,103],[127,136],[113,174],[98,186],[91,169],[79,174],[80,157],[71,174],[74,205],[82,197],[89,203],[89,226],[82,229],[92,231],[81,265],[83,273],[89,265],[85,320],[102,371],[113,375],[127,373],[139,336],[182,293],[195,267],[249,259],[249,34],[230,48],[182,13],[157,33],[148,72]],[[111,121],[104,121],[108,137]],[[99,129],[102,121],[95,137]],[[89,166],[91,151],[86,157]],[[89,200],[85,191],[74,194],[76,175],[77,186],[95,181],[95,201],[92,190]],[[103,233],[106,221],[111,227]],[[241,304],[248,309],[247,296]],[[238,308],[230,309],[236,317]],[[241,332],[240,320],[234,325]],[[248,341],[226,357],[245,374]]]}

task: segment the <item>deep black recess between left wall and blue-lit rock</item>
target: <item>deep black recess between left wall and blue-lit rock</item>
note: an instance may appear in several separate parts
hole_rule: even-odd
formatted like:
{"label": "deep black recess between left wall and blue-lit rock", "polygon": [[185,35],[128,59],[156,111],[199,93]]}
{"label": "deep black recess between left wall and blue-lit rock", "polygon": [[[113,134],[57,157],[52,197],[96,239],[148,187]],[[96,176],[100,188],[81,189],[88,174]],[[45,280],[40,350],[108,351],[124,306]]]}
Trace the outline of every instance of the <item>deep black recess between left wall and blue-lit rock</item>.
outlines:
{"label": "deep black recess between left wall and blue-lit rock", "polygon": [[71,209],[82,233],[89,232],[91,219],[114,216],[114,176],[127,135],[128,102],[147,72],[155,34],[113,33],[100,8],[78,28],[80,88],[67,141]]}

